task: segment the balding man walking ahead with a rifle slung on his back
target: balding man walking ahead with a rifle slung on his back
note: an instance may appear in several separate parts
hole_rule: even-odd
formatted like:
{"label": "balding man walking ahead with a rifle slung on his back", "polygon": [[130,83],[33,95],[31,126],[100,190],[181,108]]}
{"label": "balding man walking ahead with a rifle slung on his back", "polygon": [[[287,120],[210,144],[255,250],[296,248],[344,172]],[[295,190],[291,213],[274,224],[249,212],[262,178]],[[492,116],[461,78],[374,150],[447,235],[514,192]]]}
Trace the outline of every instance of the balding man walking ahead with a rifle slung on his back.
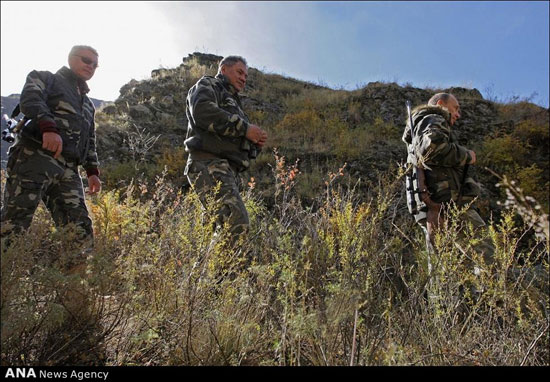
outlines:
{"label": "balding man walking ahead with a rifle slung on his back", "polygon": [[[465,166],[476,162],[476,154],[458,143],[452,130],[458,118],[458,100],[452,94],[438,93],[427,105],[418,106],[412,111],[414,126],[411,128],[407,120],[402,138],[407,144],[407,162],[424,168],[431,200],[444,207],[451,202],[463,207],[480,196],[480,187],[474,179],[466,176],[462,184]],[[415,218],[422,226],[427,245],[431,248],[426,213],[419,213]],[[460,219],[473,224],[476,229],[485,227],[485,222],[472,205]],[[483,253],[486,261],[491,261],[494,248],[488,240],[478,245],[476,250]]]}

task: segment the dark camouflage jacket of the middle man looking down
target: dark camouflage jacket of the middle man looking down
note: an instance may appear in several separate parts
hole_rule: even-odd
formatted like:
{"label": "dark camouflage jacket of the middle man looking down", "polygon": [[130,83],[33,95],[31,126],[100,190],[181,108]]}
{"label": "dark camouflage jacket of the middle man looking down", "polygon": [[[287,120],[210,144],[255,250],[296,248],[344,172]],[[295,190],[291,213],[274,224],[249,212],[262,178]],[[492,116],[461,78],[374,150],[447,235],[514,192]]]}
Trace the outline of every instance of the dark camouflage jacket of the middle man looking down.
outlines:
{"label": "dark camouflage jacket of the middle man looking down", "polygon": [[222,74],[202,77],[187,93],[185,150],[204,151],[246,170],[258,147],[245,138],[250,124],[236,89]]}

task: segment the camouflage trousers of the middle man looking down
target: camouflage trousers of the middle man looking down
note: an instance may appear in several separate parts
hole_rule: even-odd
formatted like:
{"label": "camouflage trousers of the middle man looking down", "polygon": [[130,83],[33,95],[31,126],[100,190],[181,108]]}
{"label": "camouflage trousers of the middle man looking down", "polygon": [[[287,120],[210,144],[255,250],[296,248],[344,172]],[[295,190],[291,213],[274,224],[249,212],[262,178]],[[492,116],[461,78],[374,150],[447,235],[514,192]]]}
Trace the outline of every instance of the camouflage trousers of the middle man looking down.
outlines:
{"label": "camouflage trousers of the middle man looking down", "polygon": [[218,228],[227,222],[234,239],[248,231],[248,212],[239,193],[240,177],[226,159],[188,159],[185,175],[205,208],[207,195],[220,184],[215,195],[215,200],[220,202],[216,211]]}

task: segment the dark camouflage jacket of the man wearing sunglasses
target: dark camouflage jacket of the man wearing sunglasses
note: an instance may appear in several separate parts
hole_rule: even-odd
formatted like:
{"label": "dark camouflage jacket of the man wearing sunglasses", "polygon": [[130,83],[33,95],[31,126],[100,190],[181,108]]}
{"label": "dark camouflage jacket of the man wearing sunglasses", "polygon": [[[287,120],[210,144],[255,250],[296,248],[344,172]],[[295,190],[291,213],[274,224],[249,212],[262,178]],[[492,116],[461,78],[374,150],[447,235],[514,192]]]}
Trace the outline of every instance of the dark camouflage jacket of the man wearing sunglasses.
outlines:
{"label": "dark camouflage jacket of the man wearing sunglasses", "polygon": [[89,90],[86,82],[65,66],[55,74],[29,73],[19,102],[25,118],[32,121],[21,131],[21,140],[41,144],[42,133],[56,132],[63,140],[63,158],[83,165],[88,175],[97,175],[95,107],[86,95]]}

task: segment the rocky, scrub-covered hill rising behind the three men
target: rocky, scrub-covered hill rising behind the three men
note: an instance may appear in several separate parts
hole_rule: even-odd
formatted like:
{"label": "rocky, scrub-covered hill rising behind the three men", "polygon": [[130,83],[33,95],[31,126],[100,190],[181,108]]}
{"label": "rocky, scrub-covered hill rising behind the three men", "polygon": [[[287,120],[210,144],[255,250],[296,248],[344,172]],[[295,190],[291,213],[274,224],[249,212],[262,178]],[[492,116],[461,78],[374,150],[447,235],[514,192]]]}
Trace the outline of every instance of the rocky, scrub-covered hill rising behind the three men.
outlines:
{"label": "rocky, scrub-covered hill rising behind the three men", "polygon": [[[216,74],[221,59],[189,54],[176,68],[131,80],[114,103],[98,106],[97,143],[106,187],[127,185],[136,177],[154,179],[164,168],[178,186],[187,186],[185,98],[201,76]],[[269,141],[245,176],[254,177],[269,200],[276,148],[287,163],[299,160],[302,182],[297,191],[305,201],[322,192],[327,174],[344,163],[349,183],[362,179],[367,191],[368,182],[405,160],[405,101],[422,104],[438,91],[455,94],[461,103],[455,128],[461,143],[478,153],[479,163],[471,171],[491,200],[486,207],[496,209],[502,194],[485,166],[519,179],[547,207],[549,110],[528,102],[495,103],[477,89],[462,87],[420,89],[371,82],[352,91],[334,90],[249,68],[243,105],[250,119],[268,131]],[[2,98],[6,109],[10,97]]]}

